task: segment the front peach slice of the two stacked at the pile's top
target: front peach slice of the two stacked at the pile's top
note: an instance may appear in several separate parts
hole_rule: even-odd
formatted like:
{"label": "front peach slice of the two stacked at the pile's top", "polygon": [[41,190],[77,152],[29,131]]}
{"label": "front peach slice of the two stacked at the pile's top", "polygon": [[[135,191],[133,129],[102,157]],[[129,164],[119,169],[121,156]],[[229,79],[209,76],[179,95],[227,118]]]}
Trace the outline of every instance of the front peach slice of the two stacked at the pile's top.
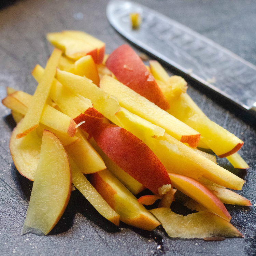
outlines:
{"label": "front peach slice of the two stacked at the pile's top", "polygon": [[91,55],[97,61],[97,48],[81,40],[64,35],[61,32],[48,33],[47,40],[56,48],[61,49],[70,59],[80,59],[85,55]]}

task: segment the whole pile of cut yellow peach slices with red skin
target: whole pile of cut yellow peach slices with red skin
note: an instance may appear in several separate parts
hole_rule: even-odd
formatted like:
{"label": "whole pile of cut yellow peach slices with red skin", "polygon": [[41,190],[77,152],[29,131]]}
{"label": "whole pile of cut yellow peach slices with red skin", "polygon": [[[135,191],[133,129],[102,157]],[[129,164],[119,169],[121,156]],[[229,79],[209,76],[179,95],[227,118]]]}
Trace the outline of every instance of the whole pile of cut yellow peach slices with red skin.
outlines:
{"label": "whole pile of cut yellow peach slices with red skin", "polygon": [[[45,69],[32,71],[34,95],[7,88],[2,100],[17,123],[13,161],[34,181],[23,233],[47,234],[76,188],[115,225],[161,224],[179,238],[242,237],[223,203],[251,205],[232,191],[244,180],[197,147],[246,169],[237,153],[243,142],[204,115],[185,80],[157,61],[145,66],[128,45],[105,55],[105,44],[84,32],[47,39],[56,48]],[[143,206],[156,200],[158,208]],[[176,214],[173,201],[197,212]]]}

